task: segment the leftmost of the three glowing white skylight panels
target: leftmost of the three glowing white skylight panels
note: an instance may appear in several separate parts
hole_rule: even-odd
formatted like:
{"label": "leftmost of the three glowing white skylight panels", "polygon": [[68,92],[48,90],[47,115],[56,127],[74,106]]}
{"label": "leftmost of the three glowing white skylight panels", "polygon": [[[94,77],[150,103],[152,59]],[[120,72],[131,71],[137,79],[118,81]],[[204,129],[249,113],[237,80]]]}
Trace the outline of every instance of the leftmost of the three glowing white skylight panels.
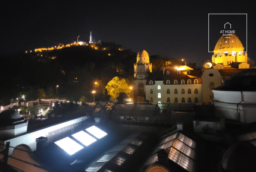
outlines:
{"label": "leftmost of the three glowing white skylight panels", "polygon": [[54,144],[60,146],[61,149],[63,149],[70,155],[73,155],[74,153],[83,149],[83,146],[77,144],[77,142],[73,141],[68,137],[61,139],[60,141],[54,142]]}

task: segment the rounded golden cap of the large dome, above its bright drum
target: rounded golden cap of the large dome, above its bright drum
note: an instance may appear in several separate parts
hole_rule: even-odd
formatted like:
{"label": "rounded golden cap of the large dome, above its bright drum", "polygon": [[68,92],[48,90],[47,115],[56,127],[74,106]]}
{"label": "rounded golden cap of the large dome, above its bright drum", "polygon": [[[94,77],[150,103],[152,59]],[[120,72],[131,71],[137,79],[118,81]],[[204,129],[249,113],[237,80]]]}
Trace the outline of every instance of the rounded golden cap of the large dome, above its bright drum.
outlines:
{"label": "rounded golden cap of the large dome, above its bright drum", "polygon": [[215,46],[214,52],[223,52],[221,49],[232,47],[243,48],[243,45],[239,38],[235,34],[232,34],[232,36],[221,36]]}

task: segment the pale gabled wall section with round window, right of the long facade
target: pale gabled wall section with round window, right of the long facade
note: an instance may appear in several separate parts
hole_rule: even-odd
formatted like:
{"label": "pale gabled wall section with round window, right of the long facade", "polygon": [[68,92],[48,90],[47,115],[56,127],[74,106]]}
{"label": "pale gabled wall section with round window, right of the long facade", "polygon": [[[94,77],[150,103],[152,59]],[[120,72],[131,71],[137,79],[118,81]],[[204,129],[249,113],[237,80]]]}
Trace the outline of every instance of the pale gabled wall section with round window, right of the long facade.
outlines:
{"label": "pale gabled wall section with round window, right of the long facade", "polygon": [[[210,74],[213,74],[210,77]],[[202,102],[207,103],[211,101],[210,95],[213,95],[213,91],[209,90],[210,82],[214,83],[214,88],[221,85],[221,75],[218,69],[207,69],[202,74]]]}

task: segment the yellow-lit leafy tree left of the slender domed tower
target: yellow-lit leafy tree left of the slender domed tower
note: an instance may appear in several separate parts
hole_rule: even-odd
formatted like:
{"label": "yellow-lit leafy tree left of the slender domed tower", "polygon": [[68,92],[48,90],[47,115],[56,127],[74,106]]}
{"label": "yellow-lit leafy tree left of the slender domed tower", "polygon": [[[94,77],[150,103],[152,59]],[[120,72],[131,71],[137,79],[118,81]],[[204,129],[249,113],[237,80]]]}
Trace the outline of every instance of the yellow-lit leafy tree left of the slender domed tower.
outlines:
{"label": "yellow-lit leafy tree left of the slender domed tower", "polygon": [[108,85],[105,87],[108,90],[108,95],[110,95],[110,101],[115,101],[120,93],[126,93],[130,95],[130,88],[126,83],[126,79],[119,79],[119,77],[114,77]]}

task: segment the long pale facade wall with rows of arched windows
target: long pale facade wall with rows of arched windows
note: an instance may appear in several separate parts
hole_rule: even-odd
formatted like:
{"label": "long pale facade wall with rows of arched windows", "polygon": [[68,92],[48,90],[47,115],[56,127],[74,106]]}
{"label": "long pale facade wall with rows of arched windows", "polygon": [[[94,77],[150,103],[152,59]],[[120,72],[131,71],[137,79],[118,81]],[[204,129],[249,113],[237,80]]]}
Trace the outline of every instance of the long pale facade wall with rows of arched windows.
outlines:
{"label": "long pale facade wall with rows of arched windows", "polygon": [[[177,85],[165,85],[164,81],[155,81],[154,85],[145,85],[146,87],[146,100],[153,98],[153,103],[156,104],[159,101],[167,103],[167,98],[170,98],[170,103],[174,103],[175,97],[178,99],[178,103],[182,103],[182,98],[185,98],[185,103],[188,103],[188,98],[191,98],[191,102],[195,102],[195,98],[198,98],[198,103],[202,102],[202,84],[177,84]],[[158,85],[161,89],[158,90]],[[150,94],[150,90],[153,90],[153,94]],[[170,94],[167,94],[167,89],[170,90]],[[174,90],[177,89],[177,94],[174,94]],[[182,89],[185,90],[185,94],[182,94]],[[191,89],[191,94],[188,94],[188,89]],[[195,94],[195,89],[198,90],[198,94]],[[158,98],[158,93],[161,93],[161,98]]]}

